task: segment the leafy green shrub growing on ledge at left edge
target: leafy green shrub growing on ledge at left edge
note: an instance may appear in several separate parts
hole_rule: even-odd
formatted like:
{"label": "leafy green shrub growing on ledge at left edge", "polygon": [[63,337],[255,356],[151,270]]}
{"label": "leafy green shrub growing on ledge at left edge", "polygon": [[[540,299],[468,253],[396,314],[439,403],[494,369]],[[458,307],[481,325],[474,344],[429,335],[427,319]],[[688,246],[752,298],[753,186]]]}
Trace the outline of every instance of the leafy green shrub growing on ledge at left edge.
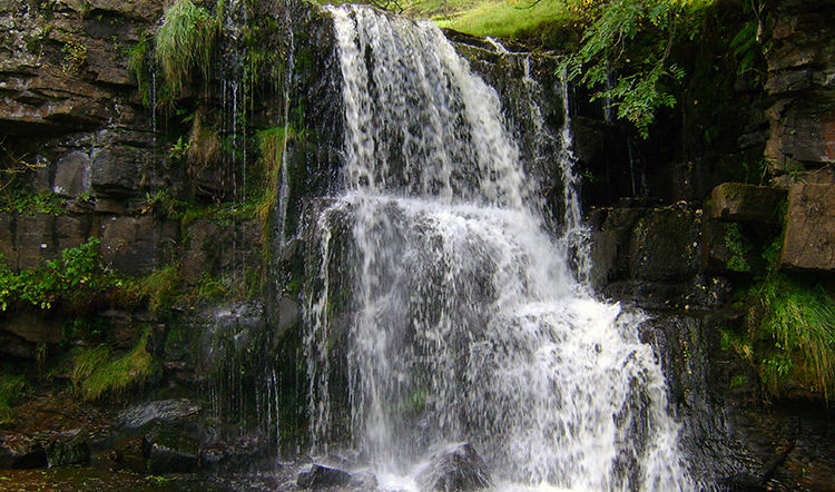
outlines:
{"label": "leafy green shrub growing on ledge at left edge", "polygon": [[[0,256],[0,259],[2,257]],[[88,239],[85,244],[61,252],[60,258],[46,265],[27,268],[19,274],[0,262],[0,309],[10,304],[30,304],[49,309],[60,303],[75,312],[87,311],[114,288],[121,286],[110,270],[99,262],[99,240]]]}

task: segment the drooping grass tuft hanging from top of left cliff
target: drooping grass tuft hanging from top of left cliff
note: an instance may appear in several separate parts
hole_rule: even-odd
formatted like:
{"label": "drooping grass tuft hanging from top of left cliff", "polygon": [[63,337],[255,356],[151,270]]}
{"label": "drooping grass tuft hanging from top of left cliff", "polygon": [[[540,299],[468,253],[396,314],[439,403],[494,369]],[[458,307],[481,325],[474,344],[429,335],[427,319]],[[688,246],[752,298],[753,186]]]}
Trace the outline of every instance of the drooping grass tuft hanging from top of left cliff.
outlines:
{"label": "drooping grass tuft hanging from top of left cliff", "polygon": [[154,59],[171,94],[183,91],[194,72],[208,80],[218,22],[190,0],[177,0],[166,10],[154,38]]}

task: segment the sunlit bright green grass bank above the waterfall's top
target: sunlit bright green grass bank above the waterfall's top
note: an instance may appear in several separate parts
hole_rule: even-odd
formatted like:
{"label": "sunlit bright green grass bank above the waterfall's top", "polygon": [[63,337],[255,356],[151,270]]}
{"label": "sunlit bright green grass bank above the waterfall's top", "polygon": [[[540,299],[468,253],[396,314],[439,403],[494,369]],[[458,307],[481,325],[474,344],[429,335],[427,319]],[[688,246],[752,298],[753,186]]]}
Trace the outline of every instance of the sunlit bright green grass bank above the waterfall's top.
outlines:
{"label": "sunlit bright green grass bank above the waterfall's top", "polygon": [[539,3],[529,0],[487,0],[475,4],[456,4],[464,9],[458,12],[451,10],[444,13],[444,17],[436,16],[436,23],[442,28],[473,36],[528,37],[543,24],[552,24],[568,18],[568,10],[560,0],[541,0]]}

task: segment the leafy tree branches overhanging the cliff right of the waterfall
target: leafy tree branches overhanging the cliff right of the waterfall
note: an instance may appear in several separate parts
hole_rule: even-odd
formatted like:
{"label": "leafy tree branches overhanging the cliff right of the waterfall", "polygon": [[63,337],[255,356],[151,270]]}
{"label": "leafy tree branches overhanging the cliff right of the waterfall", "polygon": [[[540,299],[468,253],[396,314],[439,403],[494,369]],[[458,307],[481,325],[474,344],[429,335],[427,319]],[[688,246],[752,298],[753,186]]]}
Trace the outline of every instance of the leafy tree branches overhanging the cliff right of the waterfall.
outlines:
{"label": "leafy tree branches overhanging the cliff right of the waterfall", "polygon": [[[669,63],[674,45],[692,40],[711,0],[569,0],[582,45],[563,70],[571,80],[610,99],[618,117],[649,135],[656,111],[672,107],[670,86],[684,70]],[[612,79],[616,82],[612,83]]]}

